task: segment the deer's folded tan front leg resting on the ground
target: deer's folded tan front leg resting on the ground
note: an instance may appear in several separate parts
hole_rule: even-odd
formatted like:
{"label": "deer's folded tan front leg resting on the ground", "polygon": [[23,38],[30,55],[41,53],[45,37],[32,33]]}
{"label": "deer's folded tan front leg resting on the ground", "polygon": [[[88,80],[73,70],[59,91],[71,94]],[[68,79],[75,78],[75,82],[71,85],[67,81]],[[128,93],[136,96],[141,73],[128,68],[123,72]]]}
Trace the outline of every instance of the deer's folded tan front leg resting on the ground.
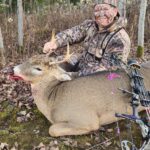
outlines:
{"label": "deer's folded tan front leg resting on the ground", "polygon": [[77,127],[75,124],[69,122],[56,123],[49,128],[49,134],[53,137],[64,136],[64,135],[81,135],[89,133],[90,131],[97,130],[96,128],[87,127]]}

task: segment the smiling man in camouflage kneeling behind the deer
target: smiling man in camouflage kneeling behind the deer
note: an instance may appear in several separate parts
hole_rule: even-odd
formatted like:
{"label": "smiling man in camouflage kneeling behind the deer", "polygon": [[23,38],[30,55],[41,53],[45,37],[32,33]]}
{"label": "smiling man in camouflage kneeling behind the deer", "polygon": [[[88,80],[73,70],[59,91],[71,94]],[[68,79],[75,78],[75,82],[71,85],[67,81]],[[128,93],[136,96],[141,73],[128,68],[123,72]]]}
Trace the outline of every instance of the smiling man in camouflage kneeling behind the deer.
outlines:
{"label": "smiling man in camouflage kneeling behind the deer", "polygon": [[47,42],[43,52],[51,53],[69,44],[84,43],[80,55],[72,55],[69,63],[78,65],[79,76],[109,70],[112,54],[127,62],[130,52],[130,38],[125,31],[126,21],[120,17],[116,3],[103,2],[94,7],[94,19],[62,31],[56,40]]}

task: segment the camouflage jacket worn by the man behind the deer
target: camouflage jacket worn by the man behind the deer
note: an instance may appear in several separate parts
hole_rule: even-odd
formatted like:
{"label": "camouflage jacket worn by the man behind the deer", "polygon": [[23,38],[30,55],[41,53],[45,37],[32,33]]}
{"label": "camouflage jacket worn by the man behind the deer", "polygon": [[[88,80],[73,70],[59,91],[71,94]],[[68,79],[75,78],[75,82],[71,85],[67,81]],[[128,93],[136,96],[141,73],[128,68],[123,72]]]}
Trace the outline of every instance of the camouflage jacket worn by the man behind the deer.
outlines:
{"label": "camouflage jacket worn by the man behind the deer", "polygon": [[74,44],[83,41],[85,51],[80,59],[80,68],[83,74],[88,74],[109,68],[103,54],[109,57],[115,53],[122,61],[127,61],[130,38],[123,27],[121,18],[107,29],[99,29],[95,21],[85,20],[80,25],[58,33],[56,41],[58,47],[66,46],[67,42]]}

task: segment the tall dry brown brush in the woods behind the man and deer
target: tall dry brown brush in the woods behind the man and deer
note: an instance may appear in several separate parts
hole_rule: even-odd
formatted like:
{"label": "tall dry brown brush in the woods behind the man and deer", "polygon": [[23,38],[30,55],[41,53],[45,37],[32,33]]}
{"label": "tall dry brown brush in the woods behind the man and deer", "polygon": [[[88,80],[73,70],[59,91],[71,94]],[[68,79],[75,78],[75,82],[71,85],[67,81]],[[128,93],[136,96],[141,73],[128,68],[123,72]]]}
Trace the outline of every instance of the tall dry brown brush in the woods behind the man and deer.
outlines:
{"label": "tall dry brown brush in the woods behind the man and deer", "polygon": [[[98,0],[97,0],[98,1]],[[100,0],[99,0],[100,1]],[[138,22],[140,0],[120,0],[125,3],[126,27],[132,42],[132,49],[138,44]],[[80,24],[85,19],[93,18],[91,0],[24,0],[23,6],[23,44],[18,47],[17,0],[0,0],[0,27],[3,37],[6,61],[16,57],[29,57],[41,53],[44,43],[50,40],[53,29],[56,33]],[[150,5],[147,2],[145,16],[144,45],[145,52],[150,48]],[[74,49],[74,48],[73,48]],[[81,49],[80,47],[75,49]],[[131,54],[134,53],[134,50]]]}

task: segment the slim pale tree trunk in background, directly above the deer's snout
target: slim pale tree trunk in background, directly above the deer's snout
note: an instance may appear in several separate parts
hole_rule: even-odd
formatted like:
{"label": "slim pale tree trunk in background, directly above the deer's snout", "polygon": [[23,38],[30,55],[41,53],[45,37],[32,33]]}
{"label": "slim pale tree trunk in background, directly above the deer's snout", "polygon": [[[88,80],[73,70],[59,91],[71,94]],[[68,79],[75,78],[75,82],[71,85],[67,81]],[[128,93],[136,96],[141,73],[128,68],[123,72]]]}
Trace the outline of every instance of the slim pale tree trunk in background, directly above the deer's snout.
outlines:
{"label": "slim pale tree trunk in background, directly above the deer's snout", "polygon": [[17,13],[18,13],[18,45],[23,47],[23,7],[22,0],[17,0]]}

